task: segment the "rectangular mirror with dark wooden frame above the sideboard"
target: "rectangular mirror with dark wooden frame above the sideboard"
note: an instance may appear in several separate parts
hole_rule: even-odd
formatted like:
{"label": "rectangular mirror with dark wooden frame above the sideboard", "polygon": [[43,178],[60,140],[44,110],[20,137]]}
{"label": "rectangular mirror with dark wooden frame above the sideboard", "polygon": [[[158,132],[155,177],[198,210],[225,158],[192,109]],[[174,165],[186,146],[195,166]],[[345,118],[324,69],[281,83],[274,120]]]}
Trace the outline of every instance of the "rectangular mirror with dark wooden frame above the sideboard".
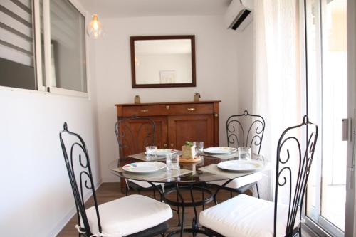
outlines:
{"label": "rectangular mirror with dark wooden frame above the sideboard", "polygon": [[194,36],[132,36],[132,88],[195,86]]}

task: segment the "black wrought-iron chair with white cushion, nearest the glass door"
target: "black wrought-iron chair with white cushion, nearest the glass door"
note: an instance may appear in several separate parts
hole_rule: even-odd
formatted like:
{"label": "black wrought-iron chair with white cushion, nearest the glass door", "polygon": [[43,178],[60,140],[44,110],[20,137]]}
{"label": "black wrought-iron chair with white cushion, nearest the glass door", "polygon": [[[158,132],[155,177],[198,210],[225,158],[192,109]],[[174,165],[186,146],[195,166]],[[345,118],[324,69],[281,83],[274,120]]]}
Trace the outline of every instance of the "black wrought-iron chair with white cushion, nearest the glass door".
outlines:
{"label": "black wrought-iron chair with white cushion, nearest the glass door", "polygon": [[[307,115],[300,125],[288,127],[278,140],[274,202],[240,194],[202,211],[201,225],[214,236],[301,236],[301,209],[317,139],[318,126]],[[278,203],[281,188],[288,195],[286,204]]]}

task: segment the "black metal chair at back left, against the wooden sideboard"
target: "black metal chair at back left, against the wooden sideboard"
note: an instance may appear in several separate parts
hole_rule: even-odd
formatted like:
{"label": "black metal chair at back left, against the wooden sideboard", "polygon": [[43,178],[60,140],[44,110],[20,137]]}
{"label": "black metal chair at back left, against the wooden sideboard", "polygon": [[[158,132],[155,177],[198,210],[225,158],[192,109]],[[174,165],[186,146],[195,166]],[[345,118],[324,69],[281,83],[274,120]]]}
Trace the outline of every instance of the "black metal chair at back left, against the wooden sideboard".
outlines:
{"label": "black metal chair at back left, against the wooden sideboard", "polygon": [[[115,134],[119,144],[120,159],[132,160],[127,155],[145,152],[145,147],[155,145],[155,122],[148,117],[128,117],[117,120],[115,123]],[[130,189],[138,194],[144,190],[152,190],[156,199],[155,187],[145,181],[125,179],[126,196]],[[153,183],[161,186],[163,184]]]}

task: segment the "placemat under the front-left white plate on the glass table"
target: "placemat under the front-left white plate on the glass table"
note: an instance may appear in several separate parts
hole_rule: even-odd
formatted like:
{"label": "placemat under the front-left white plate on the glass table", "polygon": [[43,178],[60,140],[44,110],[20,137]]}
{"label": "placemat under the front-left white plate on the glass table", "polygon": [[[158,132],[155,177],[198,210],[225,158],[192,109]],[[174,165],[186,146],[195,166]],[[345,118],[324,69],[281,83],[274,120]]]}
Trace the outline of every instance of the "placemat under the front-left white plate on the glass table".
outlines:
{"label": "placemat under the front-left white plate on the glass table", "polygon": [[[125,172],[122,168],[114,168],[112,169],[115,172]],[[166,180],[173,177],[179,177],[183,174],[192,173],[192,170],[188,169],[174,169],[172,171],[167,171],[167,169],[162,169],[158,172],[153,172],[150,174],[134,174],[130,172],[125,172],[126,179],[138,179],[142,181],[155,181],[159,182],[160,180]]]}

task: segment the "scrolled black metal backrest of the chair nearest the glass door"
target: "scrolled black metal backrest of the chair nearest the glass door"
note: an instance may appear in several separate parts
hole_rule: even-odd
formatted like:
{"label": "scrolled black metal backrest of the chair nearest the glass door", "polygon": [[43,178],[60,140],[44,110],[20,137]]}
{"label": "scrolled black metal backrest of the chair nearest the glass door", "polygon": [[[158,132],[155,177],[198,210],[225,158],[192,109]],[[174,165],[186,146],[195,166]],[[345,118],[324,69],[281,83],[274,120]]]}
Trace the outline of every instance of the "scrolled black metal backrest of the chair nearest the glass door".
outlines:
{"label": "scrolled black metal backrest of the chair nearest the glass door", "polygon": [[[308,115],[303,117],[303,122],[300,125],[284,130],[279,138],[276,161],[274,236],[276,236],[277,228],[278,187],[282,186],[285,186],[289,193],[286,236],[293,236],[295,218],[303,204],[317,139],[318,126],[309,122]],[[303,141],[305,141],[304,145]]]}

